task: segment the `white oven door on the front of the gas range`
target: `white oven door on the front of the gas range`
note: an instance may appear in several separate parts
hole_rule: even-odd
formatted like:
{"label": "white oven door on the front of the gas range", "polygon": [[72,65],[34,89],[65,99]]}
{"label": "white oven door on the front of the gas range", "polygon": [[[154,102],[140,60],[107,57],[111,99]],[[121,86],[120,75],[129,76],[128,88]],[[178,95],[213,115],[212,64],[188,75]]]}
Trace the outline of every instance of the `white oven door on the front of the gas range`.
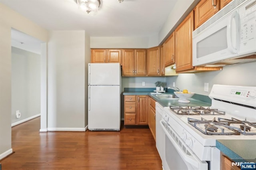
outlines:
{"label": "white oven door on the front of the gas range", "polygon": [[208,170],[208,163],[199,160],[164,119],[160,125],[165,133],[164,170]]}

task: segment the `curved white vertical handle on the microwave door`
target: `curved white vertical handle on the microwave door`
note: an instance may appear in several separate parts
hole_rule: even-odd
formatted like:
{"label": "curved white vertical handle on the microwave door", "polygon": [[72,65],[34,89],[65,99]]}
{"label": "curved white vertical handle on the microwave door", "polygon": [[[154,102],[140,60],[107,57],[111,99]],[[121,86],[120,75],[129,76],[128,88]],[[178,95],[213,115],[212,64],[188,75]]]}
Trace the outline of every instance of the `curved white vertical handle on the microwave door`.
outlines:
{"label": "curved white vertical handle on the microwave door", "polygon": [[[230,20],[229,20],[229,22],[228,22],[228,26],[227,26],[227,43],[228,43],[228,49],[230,50],[230,52],[231,53],[233,53],[233,54],[235,54],[235,53],[237,53],[237,45],[236,45],[236,47],[234,47],[234,45],[233,45],[233,41],[236,41],[236,39],[237,39],[237,37],[236,38],[234,38],[234,40],[233,40],[233,38],[232,38],[232,29],[234,29],[234,28],[232,28],[232,20],[233,20],[233,18],[234,18],[234,20],[235,20],[235,24],[236,24],[236,28],[235,29],[238,29],[238,14],[237,14],[237,12],[236,11],[234,11],[233,13],[232,13],[232,15],[231,15],[231,17],[230,17]],[[236,35],[237,36],[237,35]],[[235,42],[236,44],[237,44],[237,42]]]}

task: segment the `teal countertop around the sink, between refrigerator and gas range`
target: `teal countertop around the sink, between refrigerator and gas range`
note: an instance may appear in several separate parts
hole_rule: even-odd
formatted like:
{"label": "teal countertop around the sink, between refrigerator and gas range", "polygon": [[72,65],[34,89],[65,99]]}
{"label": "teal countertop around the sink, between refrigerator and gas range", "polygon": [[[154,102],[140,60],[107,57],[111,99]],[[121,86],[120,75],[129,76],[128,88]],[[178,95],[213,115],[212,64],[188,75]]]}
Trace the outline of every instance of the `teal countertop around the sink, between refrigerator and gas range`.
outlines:
{"label": "teal countertop around the sink, between refrigerator and gas range", "polygon": [[[157,101],[163,107],[168,106],[211,106],[211,99],[205,95],[194,94],[192,98],[188,99],[190,103],[180,103],[179,99],[160,99],[153,94],[155,88],[124,88],[123,95],[149,95],[155,101]],[[173,89],[164,89],[166,93],[164,94],[174,94]]]}

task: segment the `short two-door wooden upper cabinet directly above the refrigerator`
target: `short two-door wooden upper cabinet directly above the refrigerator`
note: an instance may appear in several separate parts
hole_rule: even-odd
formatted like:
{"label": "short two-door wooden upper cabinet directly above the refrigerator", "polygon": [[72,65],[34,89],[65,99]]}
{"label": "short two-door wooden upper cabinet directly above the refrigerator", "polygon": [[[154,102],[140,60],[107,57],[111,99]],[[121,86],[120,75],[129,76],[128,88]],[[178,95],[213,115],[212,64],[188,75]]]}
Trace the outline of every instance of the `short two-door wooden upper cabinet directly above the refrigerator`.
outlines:
{"label": "short two-door wooden upper cabinet directly above the refrigerator", "polygon": [[91,62],[121,64],[121,49],[91,49]]}

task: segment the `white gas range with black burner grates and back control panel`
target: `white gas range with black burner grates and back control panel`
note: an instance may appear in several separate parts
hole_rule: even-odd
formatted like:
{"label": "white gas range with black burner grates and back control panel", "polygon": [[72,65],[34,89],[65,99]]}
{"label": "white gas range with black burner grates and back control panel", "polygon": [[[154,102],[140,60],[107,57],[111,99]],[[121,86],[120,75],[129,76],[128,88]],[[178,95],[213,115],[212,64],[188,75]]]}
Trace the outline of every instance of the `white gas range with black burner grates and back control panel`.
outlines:
{"label": "white gas range with black burner grates and back control panel", "polygon": [[164,107],[165,170],[218,170],[216,140],[256,140],[256,87],[214,85],[209,97],[211,107]]}

